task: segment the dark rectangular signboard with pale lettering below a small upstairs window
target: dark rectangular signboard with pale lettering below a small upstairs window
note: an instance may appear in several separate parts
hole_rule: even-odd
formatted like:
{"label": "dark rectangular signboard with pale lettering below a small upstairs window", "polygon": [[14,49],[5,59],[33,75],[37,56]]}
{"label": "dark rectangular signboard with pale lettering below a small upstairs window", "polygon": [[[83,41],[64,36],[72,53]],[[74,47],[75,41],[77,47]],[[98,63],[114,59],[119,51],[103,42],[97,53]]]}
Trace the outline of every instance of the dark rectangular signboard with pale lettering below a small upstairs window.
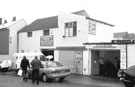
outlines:
{"label": "dark rectangular signboard with pale lettering below a small upstairs window", "polygon": [[41,36],[40,37],[40,46],[53,46],[53,36]]}

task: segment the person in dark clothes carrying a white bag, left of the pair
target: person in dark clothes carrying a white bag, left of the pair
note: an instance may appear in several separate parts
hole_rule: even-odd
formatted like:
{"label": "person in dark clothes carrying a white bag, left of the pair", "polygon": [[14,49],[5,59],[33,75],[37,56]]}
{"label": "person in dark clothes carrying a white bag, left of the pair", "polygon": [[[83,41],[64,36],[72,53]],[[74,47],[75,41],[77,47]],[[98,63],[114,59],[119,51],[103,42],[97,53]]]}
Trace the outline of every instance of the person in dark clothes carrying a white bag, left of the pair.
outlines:
{"label": "person in dark clothes carrying a white bag, left of the pair", "polygon": [[27,67],[30,68],[30,64],[26,56],[23,56],[23,59],[21,60],[21,69],[23,71],[22,76],[23,76],[23,81],[27,82]]}

